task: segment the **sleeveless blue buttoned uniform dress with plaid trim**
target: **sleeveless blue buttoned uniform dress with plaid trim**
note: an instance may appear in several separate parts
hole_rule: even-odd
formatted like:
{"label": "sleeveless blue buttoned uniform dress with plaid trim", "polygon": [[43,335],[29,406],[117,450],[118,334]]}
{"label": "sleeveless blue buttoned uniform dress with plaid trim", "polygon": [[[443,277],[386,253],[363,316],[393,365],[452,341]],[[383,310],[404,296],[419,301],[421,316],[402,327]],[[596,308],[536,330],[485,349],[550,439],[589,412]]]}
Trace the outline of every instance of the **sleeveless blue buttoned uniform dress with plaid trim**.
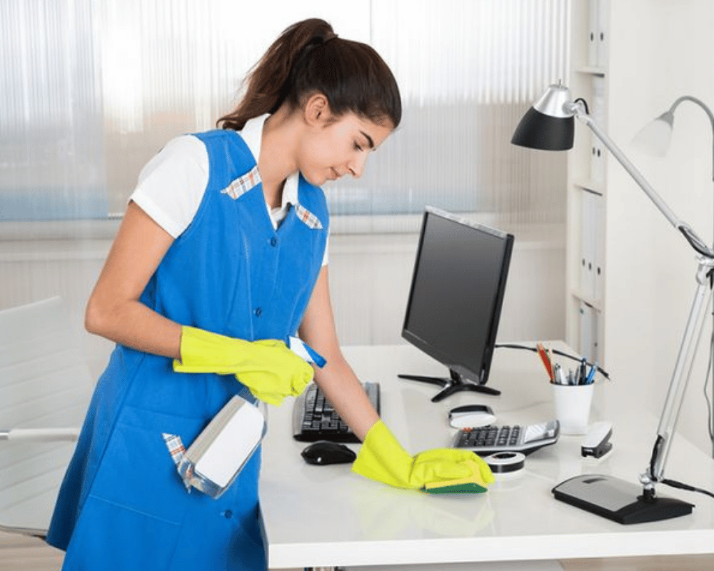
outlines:
{"label": "sleeveless blue buttoned uniform dress with plaid trim", "polygon": [[[300,177],[298,204],[273,229],[256,161],[235,131],[196,135],[208,185],[141,301],[235,338],[294,335],[321,269],[325,197]],[[89,405],[47,541],[67,570],[264,569],[260,454],[218,500],[186,492],[162,433],[191,443],[235,394],[233,375],[174,373],[169,358],[117,345]]]}

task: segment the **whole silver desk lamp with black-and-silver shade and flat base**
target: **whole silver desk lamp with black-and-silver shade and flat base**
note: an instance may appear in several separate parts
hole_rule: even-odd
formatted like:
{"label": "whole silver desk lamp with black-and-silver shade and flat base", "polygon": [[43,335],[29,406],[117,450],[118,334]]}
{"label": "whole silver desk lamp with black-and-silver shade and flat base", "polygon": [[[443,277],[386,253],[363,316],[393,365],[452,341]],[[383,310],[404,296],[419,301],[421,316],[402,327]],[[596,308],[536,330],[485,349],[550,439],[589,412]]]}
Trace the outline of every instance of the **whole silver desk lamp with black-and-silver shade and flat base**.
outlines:
{"label": "whole silver desk lamp with black-and-silver shade and flat base", "polygon": [[692,489],[665,479],[664,468],[689,381],[696,341],[699,339],[711,298],[708,274],[714,268],[714,251],[687,224],[675,216],[607,133],[590,118],[585,102],[582,99],[575,101],[570,99],[570,91],[567,87],[561,84],[549,86],[545,94],[533,103],[533,107],[523,116],[511,143],[545,151],[563,151],[572,148],[575,117],[585,123],[600,141],[603,141],[610,153],[613,153],[663,216],[683,234],[697,252],[698,265],[695,274],[697,288],[660,416],[652,457],[647,469],[640,475],[640,485],[610,475],[586,474],[561,482],[553,488],[553,495],[558,500],[620,523],[650,522],[687,515],[692,512],[693,504],[656,495],[655,484],[663,482],[675,487]]}

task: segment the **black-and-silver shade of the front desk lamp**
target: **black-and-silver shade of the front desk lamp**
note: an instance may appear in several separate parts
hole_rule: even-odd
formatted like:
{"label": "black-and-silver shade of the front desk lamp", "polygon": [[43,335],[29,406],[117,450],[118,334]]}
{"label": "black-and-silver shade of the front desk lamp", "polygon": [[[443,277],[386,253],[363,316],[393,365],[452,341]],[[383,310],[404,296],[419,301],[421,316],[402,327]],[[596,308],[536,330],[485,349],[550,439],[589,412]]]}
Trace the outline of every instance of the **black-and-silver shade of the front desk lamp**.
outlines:
{"label": "black-and-silver shade of the front desk lamp", "polygon": [[560,84],[551,85],[518,123],[511,143],[543,151],[567,151],[573,148],[575,120],[565,109],[570,91]]}

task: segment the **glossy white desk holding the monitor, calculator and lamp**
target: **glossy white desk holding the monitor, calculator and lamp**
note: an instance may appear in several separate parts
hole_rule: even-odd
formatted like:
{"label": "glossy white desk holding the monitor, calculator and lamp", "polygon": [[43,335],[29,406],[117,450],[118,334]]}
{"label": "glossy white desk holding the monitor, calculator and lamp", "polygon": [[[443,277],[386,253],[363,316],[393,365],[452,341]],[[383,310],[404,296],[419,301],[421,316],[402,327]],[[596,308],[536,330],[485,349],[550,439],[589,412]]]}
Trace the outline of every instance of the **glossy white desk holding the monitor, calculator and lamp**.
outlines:
{"label": "glossy white desk holding the monitor, calculator and lamp", "polygon": [[[447,373],[410,345],[344,352],[362,380],[381,383],[382,418],[411,453],[451,445],[456,430],[446,414],[457,405],[489,404],[504,424],[554,416],[550,385],[530,351],[496,351],[489,385],[503,390],[501,396],[459,393],[441,403],[430,400],[436,387],[396,377]],[[704,495],[658,486],[660,495],[695,503],[693,514],[628,526],[553,499],[551,488],[573,475],[607,473],[636,482],[647,465],[658,419],[642,410],[623,380],[596,387],[590,420],[614,423],[614,448],[605,458],[585,460],[580,437],[561,436],[528,456],[525,470],[498,477],[482,495],[427,495],[372,482],[348,464],[307,465],[300,456],[306,444],[291,438],[291,408],[270,408],[263,446],[261,509],[273,569],[714,552],[714,500]],[[665,473],[714,490],[714,461],[683,438],[673,443]]]}

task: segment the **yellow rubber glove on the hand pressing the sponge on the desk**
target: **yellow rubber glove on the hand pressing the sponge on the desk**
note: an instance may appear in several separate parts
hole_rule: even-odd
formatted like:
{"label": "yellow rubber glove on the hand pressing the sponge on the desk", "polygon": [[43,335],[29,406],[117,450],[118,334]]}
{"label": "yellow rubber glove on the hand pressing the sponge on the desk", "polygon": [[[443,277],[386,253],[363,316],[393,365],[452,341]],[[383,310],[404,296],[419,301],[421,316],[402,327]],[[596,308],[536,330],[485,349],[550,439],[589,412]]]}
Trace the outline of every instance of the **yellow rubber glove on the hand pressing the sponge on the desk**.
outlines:
{"label": "yellow rubber glove on the hand pressing the sponge on the desk", "polygon": [[411,456],[378,420],[369,429],[352,471],[394,487],[421,490],[434,482],[471,477],[474,465],[483,487],[493,482],[491,468],[471,450],[435,448]]}

